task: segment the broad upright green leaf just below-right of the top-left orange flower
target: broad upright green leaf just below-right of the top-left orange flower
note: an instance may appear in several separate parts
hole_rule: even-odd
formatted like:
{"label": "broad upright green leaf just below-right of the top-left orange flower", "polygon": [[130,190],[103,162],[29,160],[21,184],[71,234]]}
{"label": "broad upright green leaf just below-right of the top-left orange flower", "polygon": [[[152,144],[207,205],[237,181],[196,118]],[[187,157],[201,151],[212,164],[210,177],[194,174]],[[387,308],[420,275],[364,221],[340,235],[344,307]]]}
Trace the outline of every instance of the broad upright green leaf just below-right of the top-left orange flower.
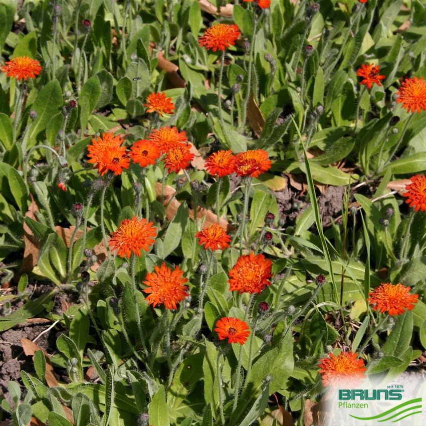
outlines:
{"label": "broad upright green leaf just below-right of the top-left orange flower", "polygon": [[36,136],[46,129],[49,121],[59,111],[59,108],[61,108],[62,105],[63,99],[61,86],[59,85],[58,80],[50,81],[37,95],[37,98],[31,108],[38,114],[30,130],[31,145],[35,144]]}

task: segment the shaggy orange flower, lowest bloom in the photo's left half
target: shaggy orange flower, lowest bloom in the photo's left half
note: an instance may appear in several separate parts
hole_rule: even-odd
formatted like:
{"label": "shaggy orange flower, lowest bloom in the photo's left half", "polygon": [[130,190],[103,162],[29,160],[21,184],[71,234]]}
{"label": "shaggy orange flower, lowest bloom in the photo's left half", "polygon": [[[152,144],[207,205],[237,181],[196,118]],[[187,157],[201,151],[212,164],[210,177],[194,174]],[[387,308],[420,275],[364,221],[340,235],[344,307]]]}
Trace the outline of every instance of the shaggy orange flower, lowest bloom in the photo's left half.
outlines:
{"label": "shaggy orange flower, lowest bloom in the photo's left half", "polygon": [[176,309],[177,304],[189,296],[184,285],[188,280],[178,266],[172,271],[163,262],[161,268],[155,266],[154,269],[155,272],[146,274],[143,282],[148,286],[144,292],[149,294],[145,299],[154,308],[164,303],[167,309]]}

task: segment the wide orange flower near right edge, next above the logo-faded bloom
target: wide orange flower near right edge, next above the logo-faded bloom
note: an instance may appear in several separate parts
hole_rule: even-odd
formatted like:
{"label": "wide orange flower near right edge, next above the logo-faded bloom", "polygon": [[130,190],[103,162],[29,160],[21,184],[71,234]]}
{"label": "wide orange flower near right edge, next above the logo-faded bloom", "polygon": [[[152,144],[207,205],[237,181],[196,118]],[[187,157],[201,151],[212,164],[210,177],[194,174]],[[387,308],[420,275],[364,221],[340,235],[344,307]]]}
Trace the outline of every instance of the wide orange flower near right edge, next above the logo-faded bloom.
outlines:
{"label": "wide orange flower near right edge, next above the logo-faded bloom", "polygon": [[418,294],[409,294],[410,287],[401,283],[381,283],[372,292],[367,300],[373,309],[380,312],[388,312],[389,315],[400,315],[405,309],[411,311],[417,303]]}

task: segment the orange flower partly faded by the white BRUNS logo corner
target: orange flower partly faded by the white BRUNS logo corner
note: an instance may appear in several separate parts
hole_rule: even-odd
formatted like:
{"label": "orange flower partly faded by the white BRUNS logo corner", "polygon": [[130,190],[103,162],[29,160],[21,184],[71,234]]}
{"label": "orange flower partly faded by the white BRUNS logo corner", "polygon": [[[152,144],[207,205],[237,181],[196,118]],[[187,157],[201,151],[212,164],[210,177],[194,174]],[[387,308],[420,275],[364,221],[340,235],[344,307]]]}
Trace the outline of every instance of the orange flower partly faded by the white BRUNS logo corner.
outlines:
{"label": "orange flower partly faded by the white BRUNS logo corner", "polygon": [[357,359],[358,354],[350,352],[340,352],[334,356],[332,352],[328,357],[320,359],[320,374],[324,386],[338,386],[346,384],[348,381],[360,381],[364,377],[366,370],[364,360]]}

